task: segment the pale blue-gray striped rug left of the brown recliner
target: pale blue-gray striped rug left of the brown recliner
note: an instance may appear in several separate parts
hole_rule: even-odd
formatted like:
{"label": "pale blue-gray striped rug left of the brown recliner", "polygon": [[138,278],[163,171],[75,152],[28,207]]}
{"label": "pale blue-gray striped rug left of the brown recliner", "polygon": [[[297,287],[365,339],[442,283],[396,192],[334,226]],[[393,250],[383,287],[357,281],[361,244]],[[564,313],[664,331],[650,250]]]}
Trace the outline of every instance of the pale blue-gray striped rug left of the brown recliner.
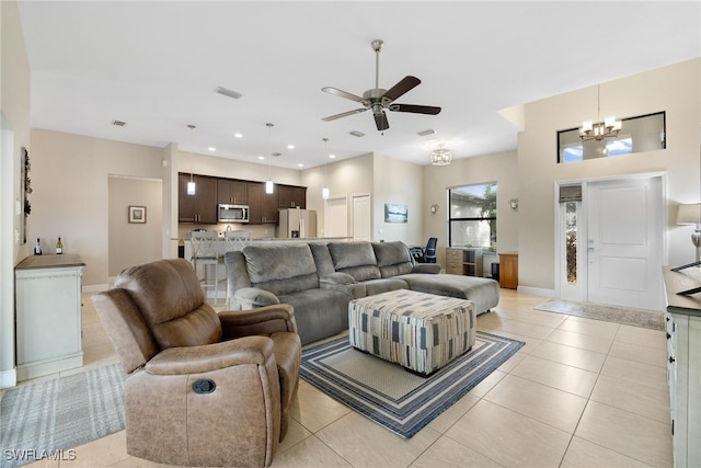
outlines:
{"label": "pale blue-gray striped rug left of the brown recliner", "polygon": [[0,466],[67,459],[70,449],[122,431],[124,379],[114,364],[7,390],[0,401]]}

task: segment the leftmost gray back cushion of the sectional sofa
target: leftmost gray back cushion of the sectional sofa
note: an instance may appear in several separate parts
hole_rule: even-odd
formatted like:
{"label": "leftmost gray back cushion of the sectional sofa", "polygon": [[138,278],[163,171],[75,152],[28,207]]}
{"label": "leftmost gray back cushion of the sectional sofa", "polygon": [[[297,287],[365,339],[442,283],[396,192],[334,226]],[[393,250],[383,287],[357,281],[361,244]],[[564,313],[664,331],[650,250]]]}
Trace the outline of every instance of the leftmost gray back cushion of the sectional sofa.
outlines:
{"label": "leftmost gray back cushion of the sectional sofa", "polygon": [[243,256],[254,287],[276,296],[319,288],[317,265],[309,244],[246,246]]}

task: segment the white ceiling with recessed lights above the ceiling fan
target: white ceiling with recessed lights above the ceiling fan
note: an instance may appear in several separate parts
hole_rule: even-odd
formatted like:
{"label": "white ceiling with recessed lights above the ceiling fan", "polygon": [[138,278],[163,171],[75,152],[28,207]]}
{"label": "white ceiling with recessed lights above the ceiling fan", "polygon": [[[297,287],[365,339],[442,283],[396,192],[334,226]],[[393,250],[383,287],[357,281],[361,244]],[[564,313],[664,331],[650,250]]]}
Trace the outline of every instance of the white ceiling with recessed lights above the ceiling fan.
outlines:
{"label": "white ceiling with recessed lights above the ceiling fan", "polygon": [[[441,142],[453,158],[515,149],[518,128],[499,110],[701,50],[699,1],[19,3],[32,127],[251,162],[278,151],[272,163],[292,169],[323,163],[322,138],[338,159],[378,151],[420,164]],[[376,38],[380,88],[416,76],[397,102],[439,115],[388,112],[383,134],[371,112],[321,121],[359,106],[321,88],[375,87]]]}

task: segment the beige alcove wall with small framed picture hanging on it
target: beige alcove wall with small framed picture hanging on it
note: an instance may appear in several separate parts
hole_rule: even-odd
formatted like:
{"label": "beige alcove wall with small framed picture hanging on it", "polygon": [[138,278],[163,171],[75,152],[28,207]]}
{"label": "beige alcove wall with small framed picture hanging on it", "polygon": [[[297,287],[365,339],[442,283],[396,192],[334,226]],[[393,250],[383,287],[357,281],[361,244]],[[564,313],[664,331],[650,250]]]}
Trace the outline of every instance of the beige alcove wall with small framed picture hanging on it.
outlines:
{"label": "beige alcove wall with small framed picture hanging on it", "polygon": [[[162,258],[163,189],[160,179],[108,176],[110,277]],[[146,207],[146,224],[128,221],[129,206]]]}

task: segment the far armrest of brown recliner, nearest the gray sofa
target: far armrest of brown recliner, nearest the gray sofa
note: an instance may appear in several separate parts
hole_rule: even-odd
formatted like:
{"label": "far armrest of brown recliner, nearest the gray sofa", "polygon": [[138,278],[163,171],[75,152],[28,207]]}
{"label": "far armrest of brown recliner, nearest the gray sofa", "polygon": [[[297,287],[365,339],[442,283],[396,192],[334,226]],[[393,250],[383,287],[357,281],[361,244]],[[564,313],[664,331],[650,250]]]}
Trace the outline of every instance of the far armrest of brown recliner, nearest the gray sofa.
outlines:
{"label": "far armrest of brown recliner, nearest the gray sofa", "polygon": [[289,304],[250,310],[225,310],[218,313],[225,340],[276,332],[297,333],[295,308]]}

